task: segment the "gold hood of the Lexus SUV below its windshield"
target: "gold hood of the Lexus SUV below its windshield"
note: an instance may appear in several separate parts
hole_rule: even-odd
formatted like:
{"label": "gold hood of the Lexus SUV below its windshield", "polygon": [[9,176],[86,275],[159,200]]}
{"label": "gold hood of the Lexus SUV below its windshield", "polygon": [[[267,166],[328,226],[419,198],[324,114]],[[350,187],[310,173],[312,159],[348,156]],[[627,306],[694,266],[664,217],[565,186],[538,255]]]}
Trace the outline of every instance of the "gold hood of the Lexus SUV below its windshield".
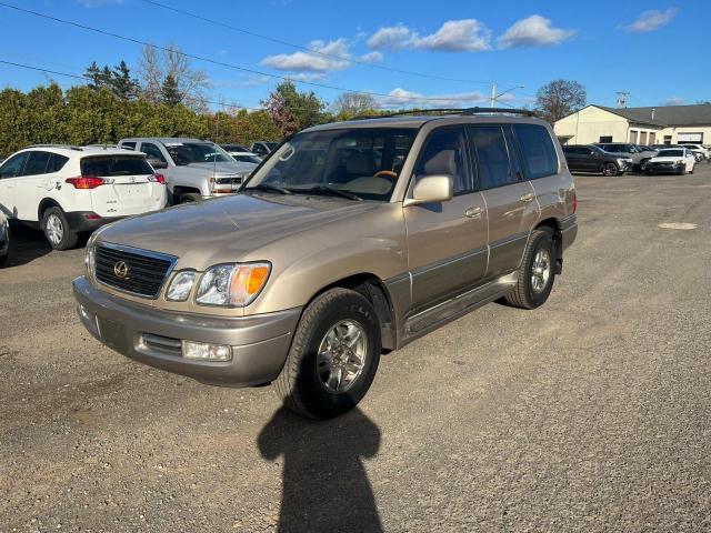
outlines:
{"label": "gold hood of the Lexus SUV below its windshield", "polygon": [[177,255],[177,268],[202,270],[377,205],[324,197],[234,194],[116,222],[101,231],[99,241]]}

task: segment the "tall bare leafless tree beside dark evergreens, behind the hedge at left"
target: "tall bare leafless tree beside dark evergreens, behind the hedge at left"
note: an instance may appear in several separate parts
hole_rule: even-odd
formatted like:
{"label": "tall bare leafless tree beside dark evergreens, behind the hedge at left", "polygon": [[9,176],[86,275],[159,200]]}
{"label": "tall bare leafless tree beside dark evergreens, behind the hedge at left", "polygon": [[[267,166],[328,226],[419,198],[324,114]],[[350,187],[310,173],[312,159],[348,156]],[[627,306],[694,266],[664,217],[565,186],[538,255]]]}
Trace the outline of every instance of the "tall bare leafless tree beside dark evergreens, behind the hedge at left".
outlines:
{"label": "tall bare leafless tree beside dark evergreens, behind the hedge at left", "polygon": [[176,43],[169,42],[164,49],[143,47],[138,72],[142,97],[148,101],[161,101],[163,86],[170,78],[170,83],[174,83],[177,88],[180,103],[196,111],[207,110],[206,91],[212,87],[208,73],[192,69],[190,58]]}

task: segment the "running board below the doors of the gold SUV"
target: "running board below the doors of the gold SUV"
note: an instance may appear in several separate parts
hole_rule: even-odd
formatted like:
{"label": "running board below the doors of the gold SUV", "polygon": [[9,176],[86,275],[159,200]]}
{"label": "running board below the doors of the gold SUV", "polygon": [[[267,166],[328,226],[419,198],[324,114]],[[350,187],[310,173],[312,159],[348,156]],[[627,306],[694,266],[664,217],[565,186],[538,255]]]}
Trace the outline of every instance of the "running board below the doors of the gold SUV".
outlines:
{"label": "running board below the doors of the gold SUV", "polygon": [[405,320],[402,344],[421,336],[440,325],[498,300],[513,289],[518,272],[512,272],[484,283],[477,289],[463,292],[457,296],[425,309]]}

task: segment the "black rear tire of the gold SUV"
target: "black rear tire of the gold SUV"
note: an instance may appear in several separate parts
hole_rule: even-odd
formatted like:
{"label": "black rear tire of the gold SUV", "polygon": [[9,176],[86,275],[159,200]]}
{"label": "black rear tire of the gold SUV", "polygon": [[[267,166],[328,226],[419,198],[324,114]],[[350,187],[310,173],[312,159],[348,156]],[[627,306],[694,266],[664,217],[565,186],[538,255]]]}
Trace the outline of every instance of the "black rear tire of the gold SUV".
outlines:
{"label": "black rear tire of the gold SUV", "polygon": [[[539,255],[539,253],[541,255]],[[532,283],[535,268],[534,262],[537,259],[543,260],[545,254],[548,255],[548,274],[541,273],[544,280],[543,278],[537,276],[539,282],[542,282],[542,285],[537,288]],[[504,296],[504,300],[509,305],[513,305],[514,308],[535,309],[548,300],[553,289],[554,279],[555,243],[553,242],[553,233],[548,228],[533,230],[529,243],[525,247],[525,252],[523,253],[523,261],[521,261],[515,286]]]}

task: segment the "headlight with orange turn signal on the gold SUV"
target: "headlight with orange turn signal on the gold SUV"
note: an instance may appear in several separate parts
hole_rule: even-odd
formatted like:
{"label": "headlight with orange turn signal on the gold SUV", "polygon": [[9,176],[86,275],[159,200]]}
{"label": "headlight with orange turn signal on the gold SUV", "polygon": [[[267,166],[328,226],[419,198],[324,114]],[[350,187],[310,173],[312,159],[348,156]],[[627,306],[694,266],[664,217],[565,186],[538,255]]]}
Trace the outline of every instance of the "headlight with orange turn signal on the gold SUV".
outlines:
{"label": "headlight with orange turn signal on the gold SUV", "polygon": [[242,308],[263,289],[271,272],[267,262],[218,264],[202,274],[196,302],[203,305]]}

